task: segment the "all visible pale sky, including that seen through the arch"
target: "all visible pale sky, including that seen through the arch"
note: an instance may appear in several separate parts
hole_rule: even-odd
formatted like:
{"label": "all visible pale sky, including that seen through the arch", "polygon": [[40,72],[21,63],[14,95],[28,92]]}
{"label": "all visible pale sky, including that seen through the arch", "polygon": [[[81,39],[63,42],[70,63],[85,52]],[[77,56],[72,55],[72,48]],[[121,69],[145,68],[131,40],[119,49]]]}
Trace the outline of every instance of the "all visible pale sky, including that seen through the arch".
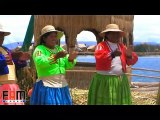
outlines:
{"label": "all visible pale sky, including that seen through the arch", "polygon": [[[31,15],[0,15],[0,23],[11,32],[5,38],[4,44],[24,40]],[[134,42],[160,43],[160,15],[135,15],[134,16]],[[77,40],[95,41],[91,32],[81,32]],[[61,39],[64,41],[64,36]]]}

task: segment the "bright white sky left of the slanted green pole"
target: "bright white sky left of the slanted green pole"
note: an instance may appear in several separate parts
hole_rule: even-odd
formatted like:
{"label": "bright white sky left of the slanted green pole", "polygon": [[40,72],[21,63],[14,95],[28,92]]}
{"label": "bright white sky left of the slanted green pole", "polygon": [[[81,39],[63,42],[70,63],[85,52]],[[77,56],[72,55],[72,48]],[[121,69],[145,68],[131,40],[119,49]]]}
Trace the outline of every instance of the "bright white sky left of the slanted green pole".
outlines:
{"label": "bright white sky left of the slanted green pole", "polygon": [[4,44],[23,42],[31,15],[0,15],[0,23],[11,32]]}

